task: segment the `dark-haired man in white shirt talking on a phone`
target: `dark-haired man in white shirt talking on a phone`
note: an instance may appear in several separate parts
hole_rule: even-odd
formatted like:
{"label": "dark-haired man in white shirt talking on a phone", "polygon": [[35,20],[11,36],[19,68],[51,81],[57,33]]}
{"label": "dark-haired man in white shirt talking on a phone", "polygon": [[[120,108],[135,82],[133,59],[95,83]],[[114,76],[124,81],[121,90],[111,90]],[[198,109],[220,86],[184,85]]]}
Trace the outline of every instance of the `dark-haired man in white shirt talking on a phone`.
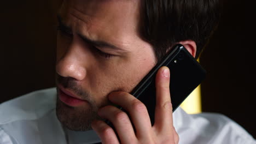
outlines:
{"label": "dark-haired man in white shirt talking on a phone", "polygon": [[172,113],[166,67],[156,76],[153,127],[146,107],[129,94],[174,44],[197,58],[218,18],[217,1],[63,1],[57,93],[45,89],[1,104],[0,142],[255,143],[224,116]]}

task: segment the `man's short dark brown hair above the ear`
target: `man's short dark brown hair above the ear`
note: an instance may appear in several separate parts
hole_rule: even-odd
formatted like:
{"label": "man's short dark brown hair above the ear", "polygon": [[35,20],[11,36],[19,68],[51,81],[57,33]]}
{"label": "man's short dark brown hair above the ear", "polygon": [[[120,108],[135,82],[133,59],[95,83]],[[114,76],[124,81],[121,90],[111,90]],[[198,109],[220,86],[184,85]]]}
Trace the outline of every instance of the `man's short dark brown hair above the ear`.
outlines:
{"label": "man's short dark brown hair above the ear", "polygon": [[218,0],[141,0],[141,37],[152,44],[158,61],[168,48],[194,40],[199,57],[222,10]]}

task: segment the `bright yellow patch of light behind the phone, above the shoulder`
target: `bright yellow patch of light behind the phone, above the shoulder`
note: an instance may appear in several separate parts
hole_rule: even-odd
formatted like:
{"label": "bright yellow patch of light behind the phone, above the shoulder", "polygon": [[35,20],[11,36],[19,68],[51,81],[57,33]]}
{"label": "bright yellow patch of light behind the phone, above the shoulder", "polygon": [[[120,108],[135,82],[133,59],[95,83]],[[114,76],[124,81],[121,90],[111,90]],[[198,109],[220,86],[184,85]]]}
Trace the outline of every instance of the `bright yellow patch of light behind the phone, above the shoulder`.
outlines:
{"label": "bright yellow patch of light behind the phone, above the shoulder", "polygon": [[[199,62],[199,59],[197,59]],[[196,114],[202,112],[201,104],[201,87],[200,85],[183,101],[182,109],[189,114]]]}

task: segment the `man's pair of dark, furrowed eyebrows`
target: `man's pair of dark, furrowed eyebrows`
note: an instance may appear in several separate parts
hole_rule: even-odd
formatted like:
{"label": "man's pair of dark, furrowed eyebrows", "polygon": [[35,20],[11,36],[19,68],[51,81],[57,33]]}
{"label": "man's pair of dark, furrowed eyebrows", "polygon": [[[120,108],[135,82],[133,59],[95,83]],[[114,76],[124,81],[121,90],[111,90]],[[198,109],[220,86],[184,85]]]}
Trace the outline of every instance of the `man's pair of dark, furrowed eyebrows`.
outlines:
{"label": "man's pair of dark, furrowed eyebrows", "polygon": [[[59,21],[59,27],[61,29],[63,29],[64,31],[66,31],[67,33],[72,33],[72,28],[68,27],[67,25],[65,25],[65,23],[63,23],[62,18],[60,16],[60,14],[57,14],[57,19]],[[101,40],[92,40],[89,39],[88,37],[86,37],[85,35],[77,32],[77,34],[79,35],[80,38],[82,38],[86,43],[92,44],[94,46],[98,46],[98,47],[109,47],[111,49],[115,49],[115,50],[121,50],[121,51],[126,51],[124,49],[121,49],[120,47],[117,47],[113,44],[109,44],[105,41],[101,41]]]}

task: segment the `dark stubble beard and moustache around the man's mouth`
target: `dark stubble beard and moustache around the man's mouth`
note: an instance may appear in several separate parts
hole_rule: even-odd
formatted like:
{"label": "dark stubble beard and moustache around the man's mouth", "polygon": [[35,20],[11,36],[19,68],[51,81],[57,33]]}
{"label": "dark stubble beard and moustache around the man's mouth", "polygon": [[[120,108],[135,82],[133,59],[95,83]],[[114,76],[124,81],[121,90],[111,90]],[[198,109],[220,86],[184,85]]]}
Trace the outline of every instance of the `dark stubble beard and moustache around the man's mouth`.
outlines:
{"label": "dark stubble beard and moustache around the man's mouth", "polygon": [[[85,107],[72,107],[62,103],[57,97],[56,115],[64,127],[73,131],[86,131],[92,129],[91,123],[95,119],[103,120],[97,115],[98,107],[88,92],[83,91],[74,81],[65,77],[57,76],[57,83],[72,89],[74,93],[83,96],[88,101],[88,105]],[[58,90],[57,95],[59,95]]]}

